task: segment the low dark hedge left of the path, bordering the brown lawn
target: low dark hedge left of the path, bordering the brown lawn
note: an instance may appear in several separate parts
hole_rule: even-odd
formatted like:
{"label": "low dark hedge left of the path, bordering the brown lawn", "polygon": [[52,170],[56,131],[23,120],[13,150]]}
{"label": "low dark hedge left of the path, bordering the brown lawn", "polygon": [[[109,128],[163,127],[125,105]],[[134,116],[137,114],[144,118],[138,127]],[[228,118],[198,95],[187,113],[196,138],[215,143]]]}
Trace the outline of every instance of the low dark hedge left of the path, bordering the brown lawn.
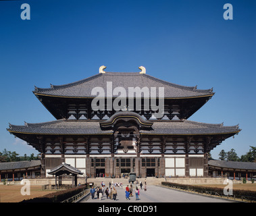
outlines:
{"label": "low dark hedge left of the path, bordering the brown lawn", "polygon": [[21,202],[62,202],[67,198],[70,198],[72,196],[75,196],[76,194],[79,194],[86,188],[87,188],[86,185],[78,186],[76,188],[71,188],[67,190],[53,192],[51,194],[46,194],[45,196],[30,198],[29,200],[22,200]]}

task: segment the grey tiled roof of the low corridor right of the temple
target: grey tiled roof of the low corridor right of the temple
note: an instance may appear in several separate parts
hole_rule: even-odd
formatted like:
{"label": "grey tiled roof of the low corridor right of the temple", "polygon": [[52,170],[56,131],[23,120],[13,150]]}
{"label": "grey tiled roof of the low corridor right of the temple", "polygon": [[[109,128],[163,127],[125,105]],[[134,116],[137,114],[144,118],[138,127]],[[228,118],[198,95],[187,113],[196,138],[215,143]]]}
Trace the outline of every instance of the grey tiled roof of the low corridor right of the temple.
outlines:
{"label": "grey tiled roof of the low corridor right of the temple", "polygon": [[213,167],[230,168],[230,169],[254,169],[254,170],[256,170],[256,163],[253,163],[253,162],[209,160],[208,165],[213,166]]}

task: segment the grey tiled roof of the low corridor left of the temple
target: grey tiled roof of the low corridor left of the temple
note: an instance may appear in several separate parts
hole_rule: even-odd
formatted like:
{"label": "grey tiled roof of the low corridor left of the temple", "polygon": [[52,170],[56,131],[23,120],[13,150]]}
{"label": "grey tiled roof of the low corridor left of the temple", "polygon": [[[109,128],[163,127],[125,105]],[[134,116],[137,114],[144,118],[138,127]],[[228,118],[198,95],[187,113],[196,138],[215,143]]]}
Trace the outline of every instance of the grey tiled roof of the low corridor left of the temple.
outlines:
{"label": "grey tiled roof of the low corridor left of the temple", "polygon": [[24,168],[30,168],[30,167],[37,167],[39,165],[41,165],[40,160],[3,162],[3,163],[0,163],[0,170],[24,169]]}

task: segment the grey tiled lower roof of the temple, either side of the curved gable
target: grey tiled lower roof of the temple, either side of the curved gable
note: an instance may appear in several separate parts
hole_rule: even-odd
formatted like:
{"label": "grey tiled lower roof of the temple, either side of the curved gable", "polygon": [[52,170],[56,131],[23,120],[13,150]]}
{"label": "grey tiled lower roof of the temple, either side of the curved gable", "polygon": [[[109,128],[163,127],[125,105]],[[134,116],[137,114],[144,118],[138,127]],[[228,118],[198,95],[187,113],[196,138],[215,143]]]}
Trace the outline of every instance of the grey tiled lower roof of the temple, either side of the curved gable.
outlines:
{"label": "grey tiled lower roof of the temple, either side of the curved gable", "polygon": [[[25,124],[25,126],[11,125],[7,129],[11,133],[20,134],[49,134],[49,135],[86,135],[111,134],[113,130],[103,130],[103,121],[67,120],[60,119],[39,124]],[[238,126],[223,126],[223,124],[205,124],[196,121],[149,121],[153,122],[149,130],[140,130],[142,134],[236,134],[240,132]]]}

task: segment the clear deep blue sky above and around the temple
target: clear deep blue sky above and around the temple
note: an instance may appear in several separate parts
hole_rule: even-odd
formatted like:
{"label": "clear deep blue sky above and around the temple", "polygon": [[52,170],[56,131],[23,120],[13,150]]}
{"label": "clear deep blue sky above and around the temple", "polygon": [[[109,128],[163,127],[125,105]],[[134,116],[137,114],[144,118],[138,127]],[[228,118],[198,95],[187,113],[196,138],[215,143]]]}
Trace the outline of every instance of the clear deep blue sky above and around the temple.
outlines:
{"label": "clear deep blue sky above and around the temple", "polygon": [[[22,20],[22,3],[30,20]],[[224,20],[225,3],[234,20]],[[7,132],[8,123],[55,118],[34,85],[75,82],[99,72],[139,72],[215,95],[190,120],[239,124],[211,151],[255,144],[255,1],[0,1],[0,151],[38,153]]]}

